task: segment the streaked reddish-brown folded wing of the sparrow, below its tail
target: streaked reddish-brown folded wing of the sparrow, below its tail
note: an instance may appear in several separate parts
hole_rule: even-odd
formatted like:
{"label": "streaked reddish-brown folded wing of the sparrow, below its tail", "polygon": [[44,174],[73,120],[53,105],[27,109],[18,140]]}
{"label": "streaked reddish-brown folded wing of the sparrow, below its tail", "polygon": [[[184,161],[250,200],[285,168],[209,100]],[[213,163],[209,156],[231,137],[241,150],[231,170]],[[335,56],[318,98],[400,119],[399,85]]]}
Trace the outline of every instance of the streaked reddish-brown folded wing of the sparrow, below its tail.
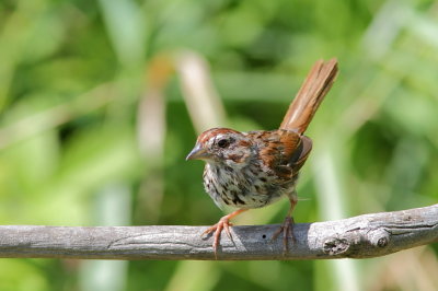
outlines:
{"label": "streaked reddish-brown folded wing of the sparrow, below its tail", "polygon": [[263,135],[263,141],[260,156],[281,178],[298,174],[312,150],[310,138],[289,130],[269,131]]}

